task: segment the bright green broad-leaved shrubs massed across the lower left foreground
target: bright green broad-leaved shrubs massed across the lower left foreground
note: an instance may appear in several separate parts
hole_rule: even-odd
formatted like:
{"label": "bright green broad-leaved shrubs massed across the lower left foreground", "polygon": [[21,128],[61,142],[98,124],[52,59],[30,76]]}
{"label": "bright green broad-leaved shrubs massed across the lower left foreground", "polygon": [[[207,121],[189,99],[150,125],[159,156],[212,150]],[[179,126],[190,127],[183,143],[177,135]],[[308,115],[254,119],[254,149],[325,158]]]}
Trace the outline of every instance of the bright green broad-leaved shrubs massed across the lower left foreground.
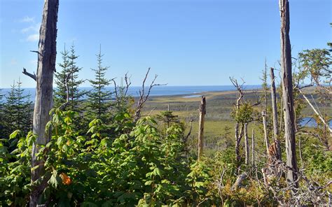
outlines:
{"label": "bright green broad-leaved shrubs massed across the lower left foreground", "polygon": [[[79,136],[74,129],[74,112],[54,108],[50,113],[53,118],[46,130],[52,131],[52,139],[40,146],[38,155],[47,155],[43,179],[48,186],[42,202],[50,206],[174,206],[205,199],[209,168],[203,163],[192,164],[184,156],[183,125],[172,124],[165,136],[155,120],[144,117],[130,133],[112,139],[102,132],[102,120],[92,120],[88,136]],[[0,145],[5,164],[0,167],[4,192],[0,200],[21,206],[28,201],[29,162],[36,136],[29,133],[25,138],[21,131],[15,131],[11,138],[18,138],[15,162],[2,142]],[[20,179],[13,183],[15,176]],[[3,191],[12,185],[18,187]]]}

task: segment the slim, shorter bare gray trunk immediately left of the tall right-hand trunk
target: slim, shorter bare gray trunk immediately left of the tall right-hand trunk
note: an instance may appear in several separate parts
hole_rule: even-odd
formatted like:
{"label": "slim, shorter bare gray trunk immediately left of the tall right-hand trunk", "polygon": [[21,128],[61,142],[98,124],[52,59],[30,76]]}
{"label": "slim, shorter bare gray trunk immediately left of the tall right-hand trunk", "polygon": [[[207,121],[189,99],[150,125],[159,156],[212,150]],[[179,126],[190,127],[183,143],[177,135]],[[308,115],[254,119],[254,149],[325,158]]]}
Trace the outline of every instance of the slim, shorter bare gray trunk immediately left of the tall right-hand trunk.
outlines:
{"label": "slim, shorter bare gray trunk immediately left of the tall right-hand trunk", "polygon": [[275,73],[273,68],[270,68],[271,78],[271,100],[272,100],[272,120],[273,120],[273,141],[277,147],[277,159],[281,160],[281,149],[279,141],[279,129],[278,129],[278,112],[277,112],[277,96],[275,93]]}

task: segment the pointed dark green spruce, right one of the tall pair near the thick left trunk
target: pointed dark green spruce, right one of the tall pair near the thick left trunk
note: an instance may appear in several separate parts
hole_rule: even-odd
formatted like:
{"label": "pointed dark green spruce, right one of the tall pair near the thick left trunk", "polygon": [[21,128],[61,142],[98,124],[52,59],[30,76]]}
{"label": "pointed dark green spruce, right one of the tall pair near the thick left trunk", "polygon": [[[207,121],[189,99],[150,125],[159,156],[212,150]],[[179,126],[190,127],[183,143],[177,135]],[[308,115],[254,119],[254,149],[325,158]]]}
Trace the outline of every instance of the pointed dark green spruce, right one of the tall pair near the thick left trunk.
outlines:
{"label": "pointed dark green spruce, right one of the tall pair near the thick left trunk", "polygon": [[107,91],[107,87],[111,80],[105,78],[108,66],[102,66],[102,50],[99,50],[97,56],[97,68],[95,71],[95,80],[89,80],[92,90],[88,92],[88,118],[90,120],[98,118],[104,123],[109,119],[108,109],[111,106],[111,92]]}

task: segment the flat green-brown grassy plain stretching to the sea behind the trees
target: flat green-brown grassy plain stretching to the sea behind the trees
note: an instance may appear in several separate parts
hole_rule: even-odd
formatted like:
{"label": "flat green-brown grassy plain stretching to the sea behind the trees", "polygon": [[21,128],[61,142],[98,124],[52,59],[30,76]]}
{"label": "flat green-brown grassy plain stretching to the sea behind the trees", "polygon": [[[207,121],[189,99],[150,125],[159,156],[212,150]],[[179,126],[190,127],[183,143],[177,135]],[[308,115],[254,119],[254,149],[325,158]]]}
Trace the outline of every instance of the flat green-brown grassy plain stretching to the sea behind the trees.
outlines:
{"label": "flat green-brown grassy plain stretching to the sea behind the trees", "polygon": [[[312,90],[307,90],[307,94],[312,94]],[[198,134],[198,108],[200,106],[201,96],[205,96],[207,100],[207,114],[205,116],[205,145],[209,149],[225,148],[227,145],[234,143],[234,120],[230,116],[233,110],[234,103],[237,99],[236,91],[224,92],[202,92],[198,94],[184,94],[174,96],[150,97],[144,106],[143,115],[157,115],[158,113],[170,110],[174,115],[178,115],[180,120],[186,123],[186,132],[188,132],[189,120],[193,118],[193,129],[189,141],[193,148],[197,142]],[[255,103],[262,96],[261,91],[245,90],[244,101]],[[317,101],[317,97],[313,97]],[[279,97],[278,97],[279,99]],[[268,93],[268,105],[270,105],[270,94]],[[261,112],[263,106],[256,106],[258,112]],[[329,115],[332,111],[328,107],[319,106],[321,111],[325,110]],[[303,109],[304,117],[311,117],[314,113],[312,109],[307,106]],[[262,124],[258,121],[249,124],[248,134],[251,137],[252,129],[255,129],[256,144],[263,146],[263,130]],[[225,128],[230,128],[229,133],[226,134]]]}

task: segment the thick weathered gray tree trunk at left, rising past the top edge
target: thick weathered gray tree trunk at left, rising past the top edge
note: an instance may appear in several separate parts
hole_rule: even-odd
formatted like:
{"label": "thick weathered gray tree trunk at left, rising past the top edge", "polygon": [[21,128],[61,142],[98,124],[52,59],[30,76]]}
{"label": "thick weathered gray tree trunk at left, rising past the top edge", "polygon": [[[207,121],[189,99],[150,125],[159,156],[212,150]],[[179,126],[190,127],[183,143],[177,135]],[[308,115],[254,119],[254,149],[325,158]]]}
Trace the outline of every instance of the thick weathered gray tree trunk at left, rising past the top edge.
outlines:
{"label": "thick weathered gray tree trunk at left, rising past the top edge", "polygon": [[[46,134],[45,127],[50,120],[50,109],[53,107],[53,73],[55,72],[55,58],[57,55],[57,11],[59,0],[46,0],[43,8],[43,20],[39,31],[38,67],[36,74],[36,100],[34,103],[33,131],[38,137],[32,146],[32,183],[41,179],[44,173],[44,160],[37,159],[39,145],[46,145],[50,141],[50,134]],[[47,185],[47,180],[33,185],[30,195],[30,206],[36,206],[38,199]]]}

